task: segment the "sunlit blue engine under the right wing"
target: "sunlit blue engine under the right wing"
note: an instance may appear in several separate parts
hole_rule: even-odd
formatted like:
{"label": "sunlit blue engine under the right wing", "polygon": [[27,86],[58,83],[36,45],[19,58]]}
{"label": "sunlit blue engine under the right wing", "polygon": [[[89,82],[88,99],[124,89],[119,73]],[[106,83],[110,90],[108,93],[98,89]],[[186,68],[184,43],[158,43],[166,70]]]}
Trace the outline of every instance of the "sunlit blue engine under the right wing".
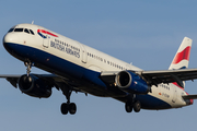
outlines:
{"label": "sunlit blue engine under the right wing", "polygon": [[138,74],[130,71],[121,71],[115,78],[116,85],[128,93],[147,94],[150,86]]}

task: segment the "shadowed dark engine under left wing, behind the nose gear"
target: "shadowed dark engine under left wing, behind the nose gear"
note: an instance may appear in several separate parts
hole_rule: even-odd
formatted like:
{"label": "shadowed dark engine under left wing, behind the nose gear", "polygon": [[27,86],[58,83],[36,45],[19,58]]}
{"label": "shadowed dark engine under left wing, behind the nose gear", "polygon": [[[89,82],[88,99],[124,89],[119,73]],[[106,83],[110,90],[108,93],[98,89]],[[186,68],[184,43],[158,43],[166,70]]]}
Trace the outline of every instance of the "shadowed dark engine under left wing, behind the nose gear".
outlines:
{"label": "shadowed dark engine under left wing, behind the nose gear", "polygon": [[51,87],[33,74],[22,75],[19,79],[19,87],[22,93],[33,97],[48,98],[51,95]]}

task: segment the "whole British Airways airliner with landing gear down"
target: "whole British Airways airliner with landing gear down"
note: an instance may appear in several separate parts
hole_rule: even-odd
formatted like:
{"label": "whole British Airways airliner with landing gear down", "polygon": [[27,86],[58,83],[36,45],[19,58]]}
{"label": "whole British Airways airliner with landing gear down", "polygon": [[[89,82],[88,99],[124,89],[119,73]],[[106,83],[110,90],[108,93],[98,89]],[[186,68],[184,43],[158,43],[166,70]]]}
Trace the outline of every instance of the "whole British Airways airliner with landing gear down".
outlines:
{"label": "whole British Airways airliner with landing gear down", "polygon": [[[77,112],[70,102],[72,92],[112,97],[132,109],[171,109],[188,106],[197,95],[185,92],[185,82],[197,79],[197,69],[187,69],[192,39],[185,37],[169,70],[144,71],[94,48],[80,44],[34,24],[19,24],[5,34],[3,46],[26,66],[26,74],[4,74],[22,93],[48,98],[51,88],[60,90],[67,98],[60,107],[67,115]],[[31,73],[32,67],[50,74]]]}

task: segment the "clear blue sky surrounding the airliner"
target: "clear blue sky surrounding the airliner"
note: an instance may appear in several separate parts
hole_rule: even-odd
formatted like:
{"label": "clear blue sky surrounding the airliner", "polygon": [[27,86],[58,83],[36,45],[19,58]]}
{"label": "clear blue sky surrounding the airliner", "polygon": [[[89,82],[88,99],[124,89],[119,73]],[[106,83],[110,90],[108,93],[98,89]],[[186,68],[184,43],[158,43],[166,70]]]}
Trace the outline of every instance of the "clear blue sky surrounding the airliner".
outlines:
{"label": "clear blue sky surrounding the airliner", "polygon": [[[195,0],[3,0],[0,4],[0,38],[10,27],[32,23],[49,28],[144,70],[169,68],[185,36],[193,43],[189,68],[197,68],[197,1]],[[23,62],[0,45],[0,73],[24,74]],[[33,73],[45,73],[33,68]],[[197,94],[197,81],[186,91]],[[112,98],[72,94],[74,116],[62,116],[66,102],[53,90],[48,99],[22,94],[0,80],[0,130],[11,131],[131,131],[195,130],[197,104],[181,109],[141,110],[127,114]]]}

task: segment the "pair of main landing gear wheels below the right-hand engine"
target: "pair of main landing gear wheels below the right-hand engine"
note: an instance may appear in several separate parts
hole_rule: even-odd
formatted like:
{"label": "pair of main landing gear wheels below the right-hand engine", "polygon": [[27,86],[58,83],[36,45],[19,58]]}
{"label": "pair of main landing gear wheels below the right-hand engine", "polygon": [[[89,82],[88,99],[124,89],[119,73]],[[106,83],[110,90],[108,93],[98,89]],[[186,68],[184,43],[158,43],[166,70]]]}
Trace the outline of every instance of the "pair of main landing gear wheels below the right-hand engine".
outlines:
{"label": "pair of main landing gear wheels below the right-hand engine", "polygon": [[135,110],[135,112],[139,112],[139,111],[140,111],[140,109],[141,109],[141,104],[140,104],[139,100],[136,100],[135,103],[127,102],[127,103],[125,104],[125,110],[126,110],[127,112],[131,112],[132,109]]}

